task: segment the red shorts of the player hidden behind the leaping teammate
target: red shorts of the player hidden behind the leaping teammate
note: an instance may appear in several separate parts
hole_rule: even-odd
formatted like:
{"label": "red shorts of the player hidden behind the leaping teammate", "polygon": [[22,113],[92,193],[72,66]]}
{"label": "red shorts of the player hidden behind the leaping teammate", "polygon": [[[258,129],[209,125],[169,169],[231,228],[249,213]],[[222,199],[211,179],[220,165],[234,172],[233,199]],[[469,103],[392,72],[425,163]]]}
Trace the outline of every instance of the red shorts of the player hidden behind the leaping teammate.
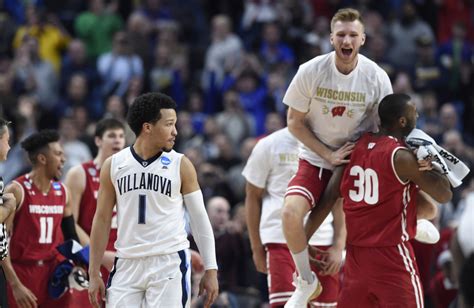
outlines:
{"label": "red shorts of the player hidden behind the leaping teammate", "polygon": [[[329,246],[315,246],[326,250]],[[267,244],[268,290],[270,306],[283,307],[295,290],[293,286],[293,273],[296,271],[295,263],[286,244]],[[318,275],[323,285],[323,293],[312,303],[323,304],[324,307],[336,307],[339,292],[339,274],[333,276],[320,276],[316,267],[311,269]],[[317,307],[316,306],[316,307]]]}

